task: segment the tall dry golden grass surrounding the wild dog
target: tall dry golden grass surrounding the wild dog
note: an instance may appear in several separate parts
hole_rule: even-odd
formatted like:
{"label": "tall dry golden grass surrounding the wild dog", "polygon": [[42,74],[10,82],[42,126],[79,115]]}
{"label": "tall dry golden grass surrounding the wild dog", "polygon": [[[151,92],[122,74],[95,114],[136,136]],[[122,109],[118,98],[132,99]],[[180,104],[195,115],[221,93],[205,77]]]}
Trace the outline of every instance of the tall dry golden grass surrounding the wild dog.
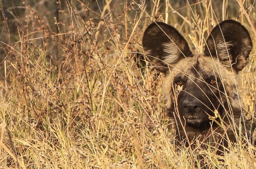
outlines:
{"label": "tall dry golden grass surrounding the wild dog", "polygon": [[237,142],[224,155],[175,145],[164,76],[142,48],[153,21],[173,25],[194,53],[221,21],[242,23],[253,50],[237,86],[253,123],[255,7],[255,0],[0,0],[0,168],[256,168],[251,144]]}

